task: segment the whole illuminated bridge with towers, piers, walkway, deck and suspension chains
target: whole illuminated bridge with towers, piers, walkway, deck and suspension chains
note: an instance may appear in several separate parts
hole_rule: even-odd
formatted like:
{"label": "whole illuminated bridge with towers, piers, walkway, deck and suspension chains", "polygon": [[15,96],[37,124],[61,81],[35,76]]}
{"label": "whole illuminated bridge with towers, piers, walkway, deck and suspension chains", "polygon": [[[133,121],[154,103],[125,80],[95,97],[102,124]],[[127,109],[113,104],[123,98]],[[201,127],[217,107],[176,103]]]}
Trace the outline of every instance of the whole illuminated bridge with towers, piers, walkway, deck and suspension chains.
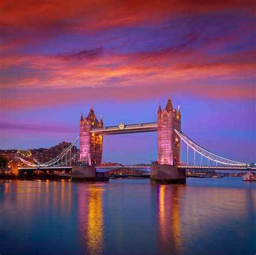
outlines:
{"label": "whole illuminated bridge with towers, piers, walkway, deck and suspension chains", "polygon": [[[105,135],[131,134],[143,132],[157,132],[158,135],[158,160],[151,165],[115,165],[104,166],[102,164],[103,138]],[[80,150],[76,151],[76,143],[80,141]],[[187,162],[180,160],[181,141],[186,144]],[[192,164],[188,161],[188,151],[193,151]],[[196,155],[200,157],[200,164],[196,164]],[[207,163],[203,164],[203,158]],[[185,182],[186,169],[212,169],[212,170],[256,170],[255,163],[243,163],[218,156],[201,147],[181,131],[180,107],[174,109],[169,98],[162,110],[159,104],[157,121],[126,125],[120,123],[116,126],[104,126],[103,118],[98,121],[93,108],[84,118],[83,114],[79,122],[79,136],[56,158],[46,163],[32,163],[20,158],[20,169],[61,169],[72,168],[72,175],[93,177],[97,174],[103,176],[115,169],[138,169],[151,173],[154,181],[177,181]],[[212,166],[212,164],[214,164]]]}

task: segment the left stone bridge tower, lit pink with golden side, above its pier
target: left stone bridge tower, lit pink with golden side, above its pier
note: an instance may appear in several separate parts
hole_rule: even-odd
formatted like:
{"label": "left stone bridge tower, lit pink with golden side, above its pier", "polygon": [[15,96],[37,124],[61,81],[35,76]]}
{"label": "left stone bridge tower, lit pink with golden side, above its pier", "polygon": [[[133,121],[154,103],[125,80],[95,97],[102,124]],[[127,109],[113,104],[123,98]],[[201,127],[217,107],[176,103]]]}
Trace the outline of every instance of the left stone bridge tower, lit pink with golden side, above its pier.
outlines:
{"label": "left stone bridge tower, lit pink with golden side, above its pier", "polygon": [[103,127],[103,119],[96,118],[93,108],[90,109],[87,118],[80,118],[80,155],[79,160],[89,166],[102,164],[103,136],[91,132],[93,127]]}

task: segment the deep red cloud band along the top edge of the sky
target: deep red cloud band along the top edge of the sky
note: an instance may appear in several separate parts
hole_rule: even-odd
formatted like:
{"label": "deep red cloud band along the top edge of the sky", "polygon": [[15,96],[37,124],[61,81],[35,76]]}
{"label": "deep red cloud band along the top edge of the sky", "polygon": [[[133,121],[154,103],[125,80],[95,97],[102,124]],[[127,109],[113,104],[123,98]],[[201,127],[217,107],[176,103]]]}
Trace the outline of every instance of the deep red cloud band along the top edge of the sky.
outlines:
{"label": "deep red cloud band along the top edge of the sky", "polygon": [[[100,8],[99,8],[100,6]],[[67,33],[91,35],[126,27],[139,27],[165,22],[170,18],[200,16],[207,13],[239,12],[252,16],[254,1],[32,1],[21,0],[0,4],[0,30],[4,44],[17,39],[30,41],[51,39]],[[234,17],[233,17],[234,18]],[[19,43],[22,43],[19,41]],[[25,44],[25,41],[23,42]]]}

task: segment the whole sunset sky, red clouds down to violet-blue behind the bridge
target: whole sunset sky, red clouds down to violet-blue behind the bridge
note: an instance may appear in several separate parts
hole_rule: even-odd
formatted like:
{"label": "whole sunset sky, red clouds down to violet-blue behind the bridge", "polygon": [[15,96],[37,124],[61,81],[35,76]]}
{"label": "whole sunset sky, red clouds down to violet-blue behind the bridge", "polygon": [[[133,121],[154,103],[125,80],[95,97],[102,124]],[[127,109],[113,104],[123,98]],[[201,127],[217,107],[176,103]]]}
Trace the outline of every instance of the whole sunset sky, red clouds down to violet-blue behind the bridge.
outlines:
{"label": "whole sunset sky, red clouds down to violet-blue behind the bridge", "polygon": [[[106,126],[153,122],[170,96],[192,140],[255,162],[255,10],[245,0],[1,0],[0,149],[72,142],[91,107]],[[103,161],[156,159],[156,133],[104,137]]]}

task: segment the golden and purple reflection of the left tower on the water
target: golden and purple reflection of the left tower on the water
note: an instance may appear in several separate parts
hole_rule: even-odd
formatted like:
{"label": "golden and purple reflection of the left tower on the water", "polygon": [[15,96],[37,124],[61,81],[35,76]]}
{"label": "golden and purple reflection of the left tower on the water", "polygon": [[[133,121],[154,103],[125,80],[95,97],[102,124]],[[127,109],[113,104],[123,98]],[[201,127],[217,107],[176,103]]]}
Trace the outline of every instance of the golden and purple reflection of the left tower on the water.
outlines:
{"label": "golden and purple reflection of the left tower on the water", "polygon": [[79,228],[89,254],[102,254],[104,249],[103,191],[102,184],[79,187]]}

